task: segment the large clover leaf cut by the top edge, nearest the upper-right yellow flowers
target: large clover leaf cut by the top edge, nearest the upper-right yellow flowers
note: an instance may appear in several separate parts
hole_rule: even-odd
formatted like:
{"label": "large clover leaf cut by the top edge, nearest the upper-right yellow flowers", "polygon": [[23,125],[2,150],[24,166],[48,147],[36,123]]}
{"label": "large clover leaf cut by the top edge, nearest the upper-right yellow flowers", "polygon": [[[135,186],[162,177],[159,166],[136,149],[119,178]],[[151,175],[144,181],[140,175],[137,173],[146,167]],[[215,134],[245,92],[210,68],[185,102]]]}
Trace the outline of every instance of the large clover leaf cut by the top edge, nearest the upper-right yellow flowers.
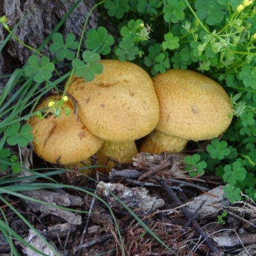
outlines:
{"label": "large clover leaf cut by the top edge, nearest the upper-right yellow flowers", "polygon": [[196,0],[196,15],[200,20],[204,20],[208,25],[215,25],[223,20],[223,10],[225,6],[217,1]]}

